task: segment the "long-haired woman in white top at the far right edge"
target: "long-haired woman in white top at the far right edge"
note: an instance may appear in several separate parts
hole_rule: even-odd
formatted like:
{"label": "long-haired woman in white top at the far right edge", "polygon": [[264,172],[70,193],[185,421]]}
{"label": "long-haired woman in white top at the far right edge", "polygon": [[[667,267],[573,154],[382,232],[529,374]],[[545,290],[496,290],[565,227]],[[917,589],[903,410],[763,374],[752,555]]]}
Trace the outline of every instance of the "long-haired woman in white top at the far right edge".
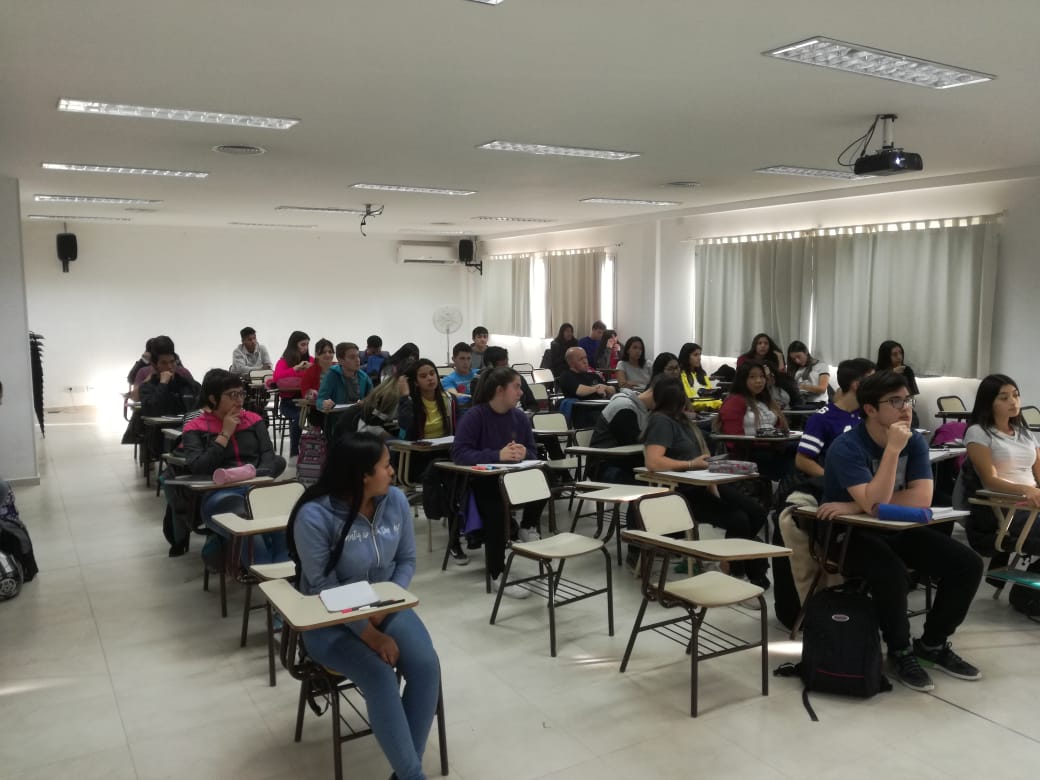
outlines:
{"label": "long-haired woman in white top at the far right edge", "polygon": [[[1040,483],[1040,452],[1022,419],[1018,385],[1013,379],[992,373],[979,383],[964,443],[983,488],[1020,495],[1024,504],[1040,506],[1040,488],[1037,488]],[[1028,510],[1015,513],[1009,530],[1012,539],[1017,538],[1028,515]],[[996,517],[989,506],[972,504],[965,530],[968,542],[977,552],[994,554]],[[1005,549],[1013,546],[1010,540],[1004,543]],[[1031,554],[1040,553],[1040,524],[1030,530],[1023,550]],[[1005,554],[996,556],[994,563],[1000,566],[1006,561]]]}

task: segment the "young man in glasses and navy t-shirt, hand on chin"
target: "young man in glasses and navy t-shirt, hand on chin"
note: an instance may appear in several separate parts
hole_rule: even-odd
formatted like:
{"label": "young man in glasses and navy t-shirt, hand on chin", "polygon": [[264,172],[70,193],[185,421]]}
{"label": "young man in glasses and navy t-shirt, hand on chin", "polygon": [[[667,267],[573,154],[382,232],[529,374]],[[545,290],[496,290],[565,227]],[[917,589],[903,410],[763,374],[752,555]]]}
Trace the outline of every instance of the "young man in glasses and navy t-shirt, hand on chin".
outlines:
{"label": "young man in glasses and navy t-shirt, hand on chin", "polygon": [[[932,468],[928,444],[910,427],[914,399],[906,378],[879,371],[860,382],[856,396],[863,422],[835,439],[827,452],[820,518],[830,520],[858,512],[877,515],[882,503],[928,506],[932,502]],[[825,523],[816,525],[820,532]],[[957,655],[948,642],[964,621],[982,579],[979,555],[931,526],[846,532],[852,537],[843,573],[866,581],[900,682],[914,691],[933,690],[921,662],[964,680],[980,679],[979,670]],[[924,633],[912,645],[907,617],[908,567],[938,583]]]}

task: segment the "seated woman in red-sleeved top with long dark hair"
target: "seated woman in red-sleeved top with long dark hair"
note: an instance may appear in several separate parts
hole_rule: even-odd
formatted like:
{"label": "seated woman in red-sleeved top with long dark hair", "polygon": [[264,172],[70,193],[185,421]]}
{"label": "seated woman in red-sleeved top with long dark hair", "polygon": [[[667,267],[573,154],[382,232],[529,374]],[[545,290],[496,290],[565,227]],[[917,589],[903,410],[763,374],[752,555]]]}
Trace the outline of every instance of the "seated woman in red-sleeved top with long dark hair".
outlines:
{"label": "seated woman in red-sleeved top with long dark hair", "polygon": [[[770,395],[764,364],[749,360],[736,369],[716,424],[721,433],[729,436],[756,436],[759,431],[771,430],[788,432],[783,412]],[[729,444],[731,451],[737,449]],[[751,460],[758,464],[762,476],[779,482],[795,468],[794,447],[789,450],[787,446],[778,448],[777,444],[755,443],[751,447]]]}

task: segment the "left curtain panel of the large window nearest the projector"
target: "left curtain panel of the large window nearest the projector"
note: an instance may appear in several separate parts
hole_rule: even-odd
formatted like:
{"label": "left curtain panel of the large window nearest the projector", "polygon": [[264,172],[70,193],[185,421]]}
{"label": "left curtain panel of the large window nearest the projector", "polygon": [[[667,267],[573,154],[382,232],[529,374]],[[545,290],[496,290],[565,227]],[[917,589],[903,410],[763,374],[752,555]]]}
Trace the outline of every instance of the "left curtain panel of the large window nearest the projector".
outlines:
{"label": "left curtain panel of the large window nearest the projector", "polygon": [[709,355],[739,355],[765,332],[786,348],[810,338],[812,241],[807,236],[703,243],[694,254],[694,339]]}

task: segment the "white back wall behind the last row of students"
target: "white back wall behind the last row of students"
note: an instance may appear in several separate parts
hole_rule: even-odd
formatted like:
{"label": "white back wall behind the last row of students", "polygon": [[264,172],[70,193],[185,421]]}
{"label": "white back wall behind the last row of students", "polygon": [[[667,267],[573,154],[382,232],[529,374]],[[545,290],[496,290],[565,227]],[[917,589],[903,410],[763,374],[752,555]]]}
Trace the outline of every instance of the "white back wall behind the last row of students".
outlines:
{"label": "white back wall behind the last row of students", "polygon": [[[385,348],[414,341],[441,362],[444,336],[434,310],[476,322],[472,271],[462,266],[398,265],[397,242],[348,234],[268,229],[171,229],[70,224],[79,259],[61,272],[54,234],[60,223],[26,223],[29,323],[47,337],[48,407],[119,405],[126,373],[150,336],[171,336],[201,380],[226,368],[245,324],[277,359],[289,333],[313,341],[356,341],[378,333]],[[6,316],[6,315],[4,315]],[[64,388],[95,388],[70,393]]]}

